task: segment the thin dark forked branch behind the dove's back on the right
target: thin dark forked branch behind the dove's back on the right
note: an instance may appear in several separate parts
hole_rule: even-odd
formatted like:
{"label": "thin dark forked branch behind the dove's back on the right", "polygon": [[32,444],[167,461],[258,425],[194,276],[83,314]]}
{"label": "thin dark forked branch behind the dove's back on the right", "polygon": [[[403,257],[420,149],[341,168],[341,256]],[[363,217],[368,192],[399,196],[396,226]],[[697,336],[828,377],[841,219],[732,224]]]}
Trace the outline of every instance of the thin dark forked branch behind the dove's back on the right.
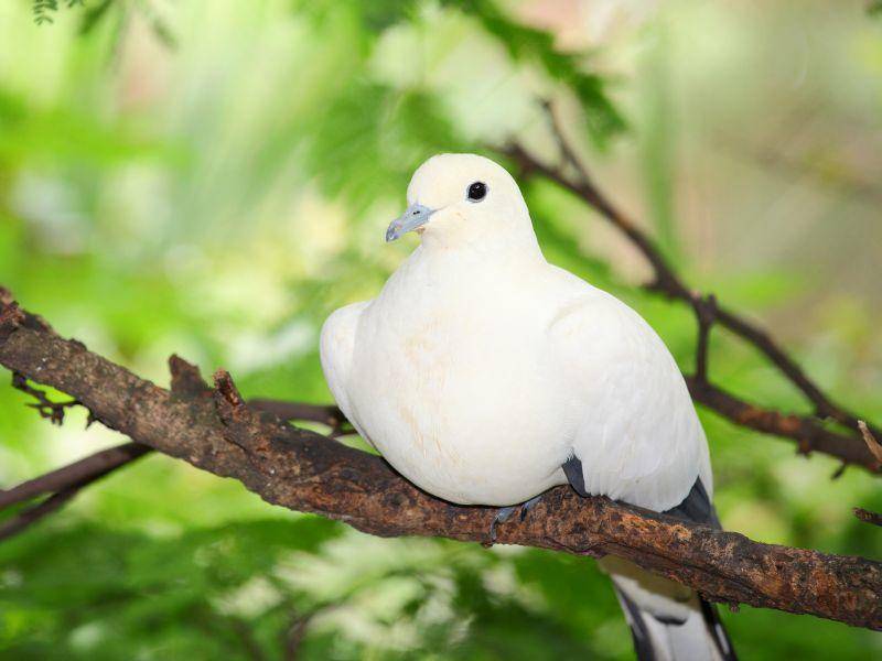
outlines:
{"label": "thin dark forked branch behind the dove's back on the right", "polygon": [[[631,217],[616,207],[600,187],[596,186],[588,169],[569,145],[563,134],[562,127],[559,124],[552,111],[551,105],[544,101],[542,108],[548,115],[551,132],[557,141],[563,165],[550,167],[517,143],[506,145],[501,150],[502,153],[512,159],[525,176],[542,176],[560,187],[570,191],[587,205],[596,210],[604,219],[624,234],[652,266],[654,279],[647,288],[650,291],[662,293],[670,299],[682,301],[692,307],[699,326],[696,375],[691,378],[692,383],[690,386],[693,399],[717,413],[729,418],[729,420],[736,424],[745,424],[743,422],[743,416],[732,415],[732,411],[741,409],[741,407],[717,405],[719,402],[731,403],[732,401],[740,400],[720,388],[712,387],[708,381],[708,335],[713,324],[720,324],[761,351],[778,371],[811,402],[818,418],[830,418],[853,432],[859,431],[858,418],[847,409],[835,403],[805,375],[799,365],[797,365],[765,330],[752,322],[749,322],[746,318],[718,305],[716,300],[712,299],[712,295],[703,296],[701,293],[695,292],[686,285],[649,236],[644,232]],[[566,174],[566,165],[569,165],[574,172],[574,177]],[[687,377],[687,379],[689,379],[689,377]],[[741,403],[759,411],[755,407],[751,407],[744,402]],[[762,427],[756,424],[746,424],[746,426],[768,434],[793,438],[799,444],[799,452],[803,454],[817,451],[841,459],[843,465],[859,465],[873,473],[880,473],[882,469],[867,447],[860,447],[860,444],[856,443],[856,441],[860,440],[860,436],[857,434],[843,436],[841,434],[828,432],[819,423],[810,422],[809,419],[806,418],[786,415],[777,412],[768,413],[770,415],[764,416]],[[799,420],[805,424],[800,423],[794,425],[793,421],[795,420]],[[870,431],[880,435],[873,427],[870,427]]]}

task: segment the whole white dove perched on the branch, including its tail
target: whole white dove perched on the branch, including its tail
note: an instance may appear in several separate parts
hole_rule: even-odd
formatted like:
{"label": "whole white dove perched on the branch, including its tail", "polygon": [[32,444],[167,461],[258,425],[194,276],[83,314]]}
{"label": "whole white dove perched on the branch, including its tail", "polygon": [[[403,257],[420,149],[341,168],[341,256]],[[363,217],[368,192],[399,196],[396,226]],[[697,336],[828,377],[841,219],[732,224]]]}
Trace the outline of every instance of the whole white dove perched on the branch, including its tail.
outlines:
{"label": "whole white dove perched on the branch, including its tail", "polygon": [[[704,433],[676,362],[627,305],[549,264],[514,178],[441,154],[386,232],[421,245],[373,301],[334,312],[321,359],[337,404],[396,470],[462,505],[569,483],[719,525]],[[611,574],[639,659],[734,659],[716,609],[625,561]]]}

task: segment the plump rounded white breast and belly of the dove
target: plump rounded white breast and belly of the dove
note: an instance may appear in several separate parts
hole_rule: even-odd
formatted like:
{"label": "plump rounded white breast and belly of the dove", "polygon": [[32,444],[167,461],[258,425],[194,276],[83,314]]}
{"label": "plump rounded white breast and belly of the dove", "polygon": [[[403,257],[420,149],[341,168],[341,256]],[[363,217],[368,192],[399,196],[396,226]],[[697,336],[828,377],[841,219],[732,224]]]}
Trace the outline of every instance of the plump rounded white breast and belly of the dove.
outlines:
{"label": "plump rounded white breast and belly of the dove", "polygon": [[545,321],[523,296],[389,284],[359,323],[352,389],[384,457],[461,503],[512,505],[564,481],[573,415],[546,353]]}

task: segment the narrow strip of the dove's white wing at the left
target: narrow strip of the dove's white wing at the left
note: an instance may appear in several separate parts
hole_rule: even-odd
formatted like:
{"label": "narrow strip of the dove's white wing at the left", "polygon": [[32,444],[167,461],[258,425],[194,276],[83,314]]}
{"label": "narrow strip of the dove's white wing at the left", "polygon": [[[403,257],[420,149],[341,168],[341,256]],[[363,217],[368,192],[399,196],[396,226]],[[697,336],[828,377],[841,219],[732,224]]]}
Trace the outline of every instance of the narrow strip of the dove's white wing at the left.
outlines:
{"label": "narrow strip of the dove's white wing at the left", "polygon": [[334,400],[346,419],[366,441],[367,436],[362,433],[355,421],[348,388],[358,319],[369,303],[369,301],[362,301],[336,310],[322,326],[319,340],[319,356],[322,360],[325,381],[331,388],[331,394],[334,395]]}

